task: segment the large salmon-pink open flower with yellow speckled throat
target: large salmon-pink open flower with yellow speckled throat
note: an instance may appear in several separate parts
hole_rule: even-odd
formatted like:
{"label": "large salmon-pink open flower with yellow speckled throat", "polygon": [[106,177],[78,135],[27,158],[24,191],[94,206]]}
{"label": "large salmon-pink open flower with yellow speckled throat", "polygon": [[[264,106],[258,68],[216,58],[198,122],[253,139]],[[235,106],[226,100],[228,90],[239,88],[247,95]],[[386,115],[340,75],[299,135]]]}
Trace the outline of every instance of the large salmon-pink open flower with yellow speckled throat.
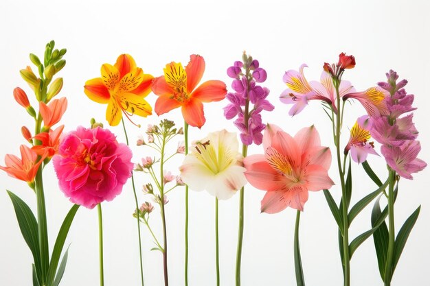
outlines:
{"label": "large salmon-pink open flower with yellow speckled throat", "polygon": [[330,189],[334,184],[328,176],[330,149],[321,146],[314,126],[292,137],[278,126],[267,125],[263,146],[264,155],[244,159],[248,182],[267,191],[262,212],[279,213],[287,206],[303,211],[308,191]]}

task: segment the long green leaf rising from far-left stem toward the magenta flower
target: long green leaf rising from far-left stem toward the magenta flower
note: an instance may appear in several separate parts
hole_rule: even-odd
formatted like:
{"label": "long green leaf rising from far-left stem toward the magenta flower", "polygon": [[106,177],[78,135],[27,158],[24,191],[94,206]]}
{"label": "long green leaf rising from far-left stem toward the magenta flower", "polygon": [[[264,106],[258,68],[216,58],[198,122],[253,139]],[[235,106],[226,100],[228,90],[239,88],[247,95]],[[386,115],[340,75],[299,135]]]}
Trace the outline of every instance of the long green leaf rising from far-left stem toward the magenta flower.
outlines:
{"label": "long green leaf rising from far-left stem toward the magenta flower", "polygon": [[51,263],[49,263],[48,274],[47,274],[47,286],[54,285],[54,277],[57,271],[58,261],[60,261],[61,252],[63,251],[63,246],[67,237],[67,233],[69,233],[69,229],[71,223],[73,222],[73,218],[76,215],[76,211],[78,211],[79,205],[74,204],[69,213],[67,213],[63,224],[61,225],[60,231],[58,231],[57,239],[54,244],[54,250],[52,250]]}

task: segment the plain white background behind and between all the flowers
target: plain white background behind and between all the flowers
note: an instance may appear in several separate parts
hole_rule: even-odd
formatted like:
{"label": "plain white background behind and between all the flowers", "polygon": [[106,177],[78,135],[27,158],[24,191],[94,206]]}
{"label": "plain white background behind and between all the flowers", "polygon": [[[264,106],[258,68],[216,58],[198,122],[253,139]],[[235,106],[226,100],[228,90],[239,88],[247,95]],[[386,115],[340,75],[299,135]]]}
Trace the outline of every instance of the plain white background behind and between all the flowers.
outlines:
{"label": "plain white background behind and between all the flowers", "polygon": [[[264,113],[265,122],[276,123],[295,134],[304,126],[315,124],[323,145],[332,146],[330,123],[321,106],[312,102],[295,118],[288,117],[290,106],[280,104],[284,90],[282,75],[298,69],[306,62],[309,80],[318,80],[324,62],[337,61],[341,51],[353,54],[357,66],[347,71],[357,90],[385,80],[389,69],[407,78],[407,91],[416,95],[414,120],[420,130],[420,158],[429,162],[430,77],[428,1],[12,1],[0,2],[0,150],[19,154],[24,143],[20,128],[32,120],[12,97],[15,86],[30,94],[19,70],[30,64],[28,53],[42,55],[45,43],[56,40],[67,48],[67,65],[59,73],[65,79],[60,95],[67,96],[69,107],[63,123],[65,130],[88,126],[95,117],[104,121],[106,106],[91,102],[83,93],[86,80],[100,76],[103,63],[113,64],[120,53],[130,53],[146,73],[158,76],[170,61],[185,65],[191,53],[206,60],[203,80],[220,79],[230,85],[225,71],[239,60],[245,49],[267,69],[265,86],[271,89],[269,99],[276,108]],[[147,97],[153,104],[156,96]],[[205,105],[207,123],[201,130],[190,128],[190,140],[207,132],[227,128],[236,131],[224,119],[222,107],[227,102]],[[345,140],[348,128],[364,110],[356,102],[347,105]],[[179,110],[168,114],[179,125]],[[147,119],[133,118],[142,126],[157,123],[157,115]],[[106,121],[104,121],[106,122]],[[122,128],[111,128],[124,141]],[[128,125],[134,160],[148,148],[134,145],[137,130]],[[172,148],[176,148],[173,144]],[[379,147],[377,146],[379,149]],[[378,150],[377,149],[377,150]],[[262,153],[260,146],[249,148],[249,154]],[[177,173],[181,158],[172,164]],[[370,163],[381,177],[386,174],[383,158],[372,157]],[[414,175],[414,180],[401,180],[396,202],[396,228],[414,209],[422,211],[397,266],[392,285],[430,285],[430,203],[426,177],[429,168]],[[50,247],[71,203],[57,187],[52,165],[45,169],[45,194]],[[330,176],[339,182],[335,165]],[[149,178],[137,174],[137,189]],[[354,164],[352,203],[375,189],[361,167]],[[21,237],[19,226],[5,189],[10,189],[35,209],[35,196],[24,182],[0,173],[0,285],[30,285],[30,251]],[[332,194],[338,201],[340,189]],[[295,211],[286,209],[276,215],[260,214],[263,191],[246,187],[245,239],[242,257],[242,285],[295,285],[293,266],[293,228]],[[183,285],[183,189],[169,195],[166,206],[169,243],[169,276],[171,285]],[[139,201],[144,201],[139,191]],[[139,285],[139,267],[131,183],[113,202],[103,204],[106,285]],[[214,198],[206,192],[190,192],[190,283],[192,286],[214,285]],[[159,215],[152,213],[152,226],[161,238]],[[220,202],[220,271],[221,285],[234,285],[238,195]],[[354,221],[351,238],[370,228],[370,208]],[[152,241],[142,230],[145,285],[162,285],[162,260],[159,252],[150,252]],[[341,285],[342,270],[337,249],[337,227],[321,192],[310,193],[302,214],[301,248],[304,273],[308,285]],[[71,227],[67,245],[71,243],[69,261],[62,285],[98,285],[97,211],[80,208]],[[382,285],[378,274],[372,239],[363,243],[352,257],[352,285]]]}

